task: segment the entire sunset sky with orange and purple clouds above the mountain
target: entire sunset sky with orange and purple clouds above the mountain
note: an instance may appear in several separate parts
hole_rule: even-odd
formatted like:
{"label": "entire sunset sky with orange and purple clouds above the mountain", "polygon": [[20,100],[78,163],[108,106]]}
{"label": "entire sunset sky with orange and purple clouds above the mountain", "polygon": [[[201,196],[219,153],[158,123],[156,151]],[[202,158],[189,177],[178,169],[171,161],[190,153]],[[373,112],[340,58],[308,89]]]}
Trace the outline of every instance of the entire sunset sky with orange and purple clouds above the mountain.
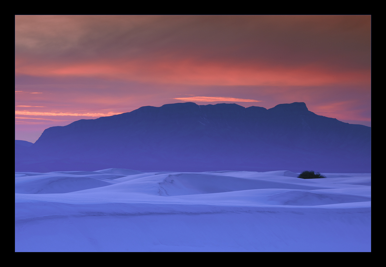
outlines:
{"label": "entire sunset sky with orange and purple clouds above the mountain", "polygon": [[17,15],[15,139],[142,106],[236,103],[371,126],[370,15]]}

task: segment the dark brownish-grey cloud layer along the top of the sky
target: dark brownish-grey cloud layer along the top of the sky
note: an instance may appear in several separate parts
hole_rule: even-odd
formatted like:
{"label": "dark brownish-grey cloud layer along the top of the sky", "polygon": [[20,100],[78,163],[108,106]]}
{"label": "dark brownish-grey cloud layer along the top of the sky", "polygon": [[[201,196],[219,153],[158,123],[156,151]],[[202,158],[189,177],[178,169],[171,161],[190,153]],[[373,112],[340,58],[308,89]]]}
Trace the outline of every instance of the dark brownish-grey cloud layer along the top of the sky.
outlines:
{"label": "dark brownish-grey cloud layer along the top of the sky", "polygon": [[368,15],[16,16],[17,54],[60,60],[196,59],[370,65]]}

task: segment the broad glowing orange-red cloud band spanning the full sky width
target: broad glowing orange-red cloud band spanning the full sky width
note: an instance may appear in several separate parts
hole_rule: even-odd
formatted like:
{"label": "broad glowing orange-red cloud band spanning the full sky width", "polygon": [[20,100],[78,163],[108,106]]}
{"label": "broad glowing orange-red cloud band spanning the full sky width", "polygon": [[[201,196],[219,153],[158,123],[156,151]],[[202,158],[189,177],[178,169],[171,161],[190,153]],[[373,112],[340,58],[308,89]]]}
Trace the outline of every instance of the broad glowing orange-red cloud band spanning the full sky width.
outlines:
{"label": "broad glowing orange-red cloud band spanning the full sky width", "polygon": [[268,85],[320,86],[330,84],[370,84],[369,70],[336,71],[317,65],[284,67],[235,62],[200,62],[195,60],[147,61],[124,60],[59,64],[17,65],[17,74],[51,77],[100,77],[135,82],[188,85]]}

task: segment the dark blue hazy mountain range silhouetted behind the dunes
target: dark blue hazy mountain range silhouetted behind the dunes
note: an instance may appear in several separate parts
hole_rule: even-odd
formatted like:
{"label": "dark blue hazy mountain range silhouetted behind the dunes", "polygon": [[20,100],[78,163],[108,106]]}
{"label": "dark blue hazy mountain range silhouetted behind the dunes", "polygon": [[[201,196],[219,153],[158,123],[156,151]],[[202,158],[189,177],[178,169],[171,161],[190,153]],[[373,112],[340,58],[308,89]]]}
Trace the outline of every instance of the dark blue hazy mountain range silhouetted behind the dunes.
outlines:
{"label": "dark blue hazy mountain range silhouetted behind the dunes", "polygon": [[371,128],[319,116],[303,102],[185,102],[51,127],[16,157],[17,171],[103,168],[369,173]]}

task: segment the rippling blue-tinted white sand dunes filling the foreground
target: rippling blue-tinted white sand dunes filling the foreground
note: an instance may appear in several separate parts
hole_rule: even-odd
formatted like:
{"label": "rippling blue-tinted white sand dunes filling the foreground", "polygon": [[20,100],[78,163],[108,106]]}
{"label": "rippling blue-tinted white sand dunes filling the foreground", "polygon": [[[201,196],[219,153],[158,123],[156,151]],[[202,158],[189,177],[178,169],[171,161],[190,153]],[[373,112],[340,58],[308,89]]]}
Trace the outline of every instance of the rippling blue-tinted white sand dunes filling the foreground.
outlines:
{"label": "rippling blue-tinted white sand dunes filling the foreground", "polygon": [[371,175],[296,176],[15,173],[15,251],[371,251]]}

